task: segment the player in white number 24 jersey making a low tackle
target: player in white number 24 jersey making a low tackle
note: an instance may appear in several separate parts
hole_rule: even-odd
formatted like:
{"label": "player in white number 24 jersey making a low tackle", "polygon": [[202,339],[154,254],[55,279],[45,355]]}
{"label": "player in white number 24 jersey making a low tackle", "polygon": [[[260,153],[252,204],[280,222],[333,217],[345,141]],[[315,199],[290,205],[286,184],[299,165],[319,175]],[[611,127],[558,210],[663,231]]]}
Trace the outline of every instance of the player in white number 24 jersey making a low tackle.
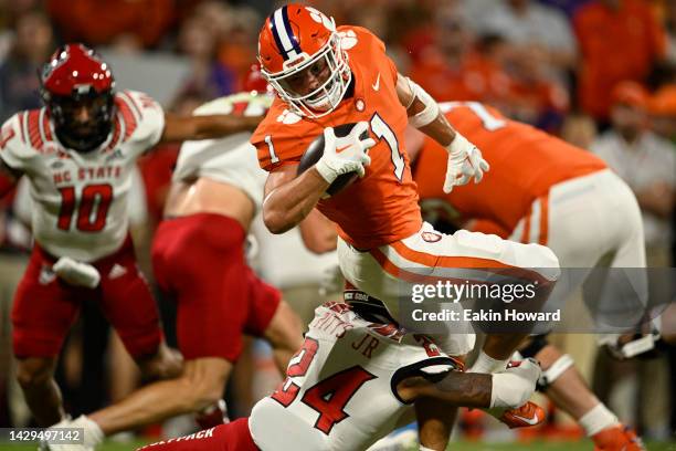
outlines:
{"label": "player in white number 24 jersey making a low tackle", "polygon": [[540,374],[535,360],[494,375],[463,373],[429,337],[385,315],[368,302],[319,306],[287,378],[249,419],[142,450],[362,451],[410,421],[420,399],[508,409],[532,394]]}

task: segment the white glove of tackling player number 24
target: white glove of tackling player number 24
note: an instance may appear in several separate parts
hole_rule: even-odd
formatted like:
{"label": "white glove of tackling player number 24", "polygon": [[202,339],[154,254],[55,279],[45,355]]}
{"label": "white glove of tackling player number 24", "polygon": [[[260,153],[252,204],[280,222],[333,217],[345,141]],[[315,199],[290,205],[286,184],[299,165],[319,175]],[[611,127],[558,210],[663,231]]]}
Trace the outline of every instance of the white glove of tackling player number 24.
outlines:
{"label": "white glove of tackling player number 24", "polygon": [[513,366],[493,375],[490,390],[490,407],[516,409],[532,396],[536,384],[542,370],[532,359],[521,360],[519,366]]}

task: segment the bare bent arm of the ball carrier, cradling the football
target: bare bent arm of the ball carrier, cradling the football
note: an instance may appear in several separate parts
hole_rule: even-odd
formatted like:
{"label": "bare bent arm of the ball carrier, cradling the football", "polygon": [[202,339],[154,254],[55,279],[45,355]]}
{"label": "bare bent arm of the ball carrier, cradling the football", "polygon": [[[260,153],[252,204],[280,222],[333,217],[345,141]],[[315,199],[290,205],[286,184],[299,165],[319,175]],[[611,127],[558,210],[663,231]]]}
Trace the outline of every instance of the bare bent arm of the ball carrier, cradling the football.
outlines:
{"label": "bare bent arm of the ball carrier, cradling the football", "polygon": [[298,226],[329,186],[316,168],[296,177],[296,167],[282,166],[270,172],[265,181],[263,222],[272,233],[284,233]]}

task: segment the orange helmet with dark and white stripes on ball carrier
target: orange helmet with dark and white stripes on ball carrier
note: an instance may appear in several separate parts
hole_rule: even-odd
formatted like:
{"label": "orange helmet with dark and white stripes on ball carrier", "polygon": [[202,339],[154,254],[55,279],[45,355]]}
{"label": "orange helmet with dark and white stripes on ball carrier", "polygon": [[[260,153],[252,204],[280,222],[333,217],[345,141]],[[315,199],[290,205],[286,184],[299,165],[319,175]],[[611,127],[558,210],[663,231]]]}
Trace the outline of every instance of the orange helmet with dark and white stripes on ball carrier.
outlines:
{"label": "orange helmet with dark and white stripes on ball carrier", "polygon": [[258,62],[279,97],[309,117],[334,111],[352,80],[334,19],[303,4],[282,7],[265,20]]}

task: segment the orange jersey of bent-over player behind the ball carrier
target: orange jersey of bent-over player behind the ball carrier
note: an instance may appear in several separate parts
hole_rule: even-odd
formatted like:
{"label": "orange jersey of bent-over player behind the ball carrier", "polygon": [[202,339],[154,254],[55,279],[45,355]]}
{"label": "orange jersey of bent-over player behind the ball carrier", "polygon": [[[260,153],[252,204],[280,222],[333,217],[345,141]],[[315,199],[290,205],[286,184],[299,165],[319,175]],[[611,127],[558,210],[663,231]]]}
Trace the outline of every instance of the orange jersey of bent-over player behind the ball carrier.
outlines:
{"label": "orange jersey of bent-over player behind the ball carrier", "polygon": [[482,150],[490,170],[478,185],[469,182],[445,195],[447,153],[426,137],[414,165],[421,199],[445,199],[464,218],[495,222],[496,230],[507,234],[552,185],[606,167],[593,154],[507,119],[489,106],[468,102],[441,107],[453,127]]}

